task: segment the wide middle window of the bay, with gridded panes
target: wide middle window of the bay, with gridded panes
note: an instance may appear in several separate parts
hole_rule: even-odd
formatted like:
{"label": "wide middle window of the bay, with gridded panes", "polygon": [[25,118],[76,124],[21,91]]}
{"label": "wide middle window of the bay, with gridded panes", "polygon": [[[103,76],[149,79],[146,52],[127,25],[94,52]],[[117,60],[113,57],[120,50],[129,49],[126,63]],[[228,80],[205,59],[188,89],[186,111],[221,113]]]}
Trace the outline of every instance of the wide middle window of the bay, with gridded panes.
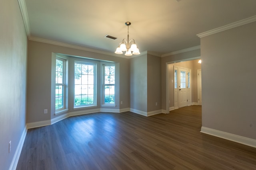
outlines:
{"label": "wide middle window of the bay, with gridded panes", "polygon": [[96,64],[75,62],[74,107],[96,105]]}

